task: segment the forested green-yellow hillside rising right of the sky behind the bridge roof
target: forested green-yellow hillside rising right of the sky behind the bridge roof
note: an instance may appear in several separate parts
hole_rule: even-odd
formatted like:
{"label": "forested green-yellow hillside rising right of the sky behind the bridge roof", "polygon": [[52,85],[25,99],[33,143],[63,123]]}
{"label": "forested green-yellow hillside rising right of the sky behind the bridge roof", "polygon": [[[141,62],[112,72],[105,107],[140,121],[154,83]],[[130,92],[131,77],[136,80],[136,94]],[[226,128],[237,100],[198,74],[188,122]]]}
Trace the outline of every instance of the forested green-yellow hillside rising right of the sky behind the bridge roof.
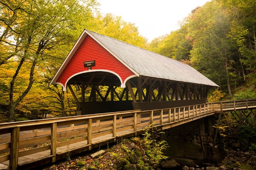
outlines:
{"label": "forested green-yellow hillside rising right of the sky behind the bridge roof", "polygon": [[217,83],[225,99],[255,98],[255,32],[256,1],[212,0],[148,50],[191,65]]}

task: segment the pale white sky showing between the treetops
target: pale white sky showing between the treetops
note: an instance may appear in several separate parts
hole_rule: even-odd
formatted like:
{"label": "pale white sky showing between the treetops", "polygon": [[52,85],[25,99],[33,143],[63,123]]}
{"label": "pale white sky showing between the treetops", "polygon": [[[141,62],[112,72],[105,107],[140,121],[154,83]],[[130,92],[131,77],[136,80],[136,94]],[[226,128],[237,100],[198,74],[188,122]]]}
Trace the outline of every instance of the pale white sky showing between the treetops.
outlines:
{"label": "pale white sky showing between the treetops", "polygon": [[98,0],[102,14],[134,23],[148,42],[179,29],[179,21],[210,0]]}

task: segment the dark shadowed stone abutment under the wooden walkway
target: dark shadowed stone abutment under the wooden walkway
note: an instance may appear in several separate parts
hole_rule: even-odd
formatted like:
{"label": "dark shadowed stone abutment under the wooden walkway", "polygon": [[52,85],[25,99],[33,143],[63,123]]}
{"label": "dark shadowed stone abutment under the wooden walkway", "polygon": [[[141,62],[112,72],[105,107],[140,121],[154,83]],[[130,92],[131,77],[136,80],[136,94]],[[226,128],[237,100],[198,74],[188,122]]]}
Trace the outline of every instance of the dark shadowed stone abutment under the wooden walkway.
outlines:
{"label": "dark shadowed stone abutment under the wooden walkway", "polygon": [[[199,123],[192,121],[166,130],[165,134],[161,135],[161,140],[167,141],[170,146],[165,153],[166,156],[192,159],[199,163],[220,163],[224,153],[221,147],[213,146],[213,125],[213,117],[209,116],[200,119]],[[200,145],[199,126],[204,150]]]}

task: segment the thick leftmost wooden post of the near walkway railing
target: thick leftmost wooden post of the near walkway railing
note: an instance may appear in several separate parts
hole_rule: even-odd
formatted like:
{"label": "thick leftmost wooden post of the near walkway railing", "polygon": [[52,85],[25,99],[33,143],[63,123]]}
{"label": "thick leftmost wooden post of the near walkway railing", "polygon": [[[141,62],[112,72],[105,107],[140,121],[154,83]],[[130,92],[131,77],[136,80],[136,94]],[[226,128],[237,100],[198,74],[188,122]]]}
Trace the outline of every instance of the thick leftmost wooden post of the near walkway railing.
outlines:
{"label": "thick leftmost wooden post of the near walkway railing", "polygon": [[18,168],[18,154],[19,154],[19,127],[12,128],[11,142],[10,142],[10,160],[9,166],[12,170]]}

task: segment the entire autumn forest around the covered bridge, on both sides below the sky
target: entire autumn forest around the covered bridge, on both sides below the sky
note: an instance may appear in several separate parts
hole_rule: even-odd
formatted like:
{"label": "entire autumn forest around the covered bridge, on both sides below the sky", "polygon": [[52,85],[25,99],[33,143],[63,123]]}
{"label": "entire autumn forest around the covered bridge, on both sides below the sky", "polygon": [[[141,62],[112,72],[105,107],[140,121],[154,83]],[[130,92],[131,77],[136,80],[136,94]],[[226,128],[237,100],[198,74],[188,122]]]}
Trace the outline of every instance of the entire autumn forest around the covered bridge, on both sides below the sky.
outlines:
{"label": "entire autumn forest around the covered bridge, on both sides below the sky", "polygon": [[193,10],[179,30],[151,43],[134,23],[100,14],[99,5],[97,0],[0,1],[1,122],[76,115],[70,92],[49,83],[83,29],[185,62],[217,83],[225,99],[256,98],[254,0],[212,0]]}

